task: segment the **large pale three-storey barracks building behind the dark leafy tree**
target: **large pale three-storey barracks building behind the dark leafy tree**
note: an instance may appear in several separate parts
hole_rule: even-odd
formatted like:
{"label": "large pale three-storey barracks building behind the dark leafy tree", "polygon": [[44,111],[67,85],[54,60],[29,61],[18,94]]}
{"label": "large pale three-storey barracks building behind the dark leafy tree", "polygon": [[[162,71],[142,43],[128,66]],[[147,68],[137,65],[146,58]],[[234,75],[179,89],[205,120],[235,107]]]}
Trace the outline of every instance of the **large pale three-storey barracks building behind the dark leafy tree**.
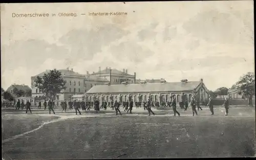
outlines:
{"label": "large pale three-storey barracks building behind the dark leafy tree", "polygon": [[[57,101],[70,100],[73,95],[83,95],[93,86],[108,82],[108,80],[104,80],[100,77],[90,75],[89,73],[87,75],[76,73],[73,71],[73,68],[71,70],[67,68],[67,70],[58,71],[61,72],[63,80],[66,81],[67,88],[65,90],[62,90],[61,93],[57,95]],[[40,89],[35,87],[34,80],[36,80],[37,76],[42,77],[45,73],[47,74],[49,72],[50,70],[46,70],[45,72],[31,77],[32,97],[40,98],[44,95]]]}

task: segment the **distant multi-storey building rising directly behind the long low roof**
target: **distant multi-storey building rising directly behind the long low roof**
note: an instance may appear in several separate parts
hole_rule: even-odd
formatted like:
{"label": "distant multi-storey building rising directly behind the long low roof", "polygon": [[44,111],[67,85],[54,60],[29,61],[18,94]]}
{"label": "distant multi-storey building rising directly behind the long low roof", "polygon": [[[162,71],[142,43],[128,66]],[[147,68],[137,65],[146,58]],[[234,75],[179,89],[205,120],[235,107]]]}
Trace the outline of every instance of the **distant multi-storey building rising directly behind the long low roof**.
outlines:
{"label": "distant multi-storey building rising directly behind the long low roof", "polygon": [[105,70],[101,71],[99,67],[99,71],[96,73],[94,72],[91,75],[108,80],[111,82],[111,84],[121,84],[123,81],[128,81],[128,83],[136,83],[136,73],[134,73],[134,75],[130,75],[128,74],[128,71],[124,69],[122,72],[111,67],[106,67]]}

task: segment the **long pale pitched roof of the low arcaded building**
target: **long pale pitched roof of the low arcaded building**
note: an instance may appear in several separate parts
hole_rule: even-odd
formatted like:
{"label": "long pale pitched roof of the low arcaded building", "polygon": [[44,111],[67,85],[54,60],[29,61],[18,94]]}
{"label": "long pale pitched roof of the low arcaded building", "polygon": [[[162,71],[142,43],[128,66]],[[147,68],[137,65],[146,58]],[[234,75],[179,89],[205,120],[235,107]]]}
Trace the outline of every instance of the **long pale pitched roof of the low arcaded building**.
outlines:
{"label": "long pale pitched roof of the low arcaded building", "polygon": [[98,93],[147,93],[147,92],[179,92],[183,90],[193,90],[200,84],[200,81],[186,83],[146,83],[146,84],[116,84],[116,85],[96,85],[88,90],[87,94]]}

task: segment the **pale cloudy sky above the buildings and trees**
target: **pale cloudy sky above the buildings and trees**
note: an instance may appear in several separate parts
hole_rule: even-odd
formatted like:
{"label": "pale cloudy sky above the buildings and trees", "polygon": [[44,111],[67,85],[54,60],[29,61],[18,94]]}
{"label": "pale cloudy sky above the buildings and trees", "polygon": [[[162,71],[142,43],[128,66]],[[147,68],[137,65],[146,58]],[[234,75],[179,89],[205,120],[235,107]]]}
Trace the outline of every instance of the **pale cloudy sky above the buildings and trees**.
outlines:
{"label": "pale cloudy sky above the buildings and trees", "polygon": [[[12,17],[59,12],[78,15]],[[1,85],[30,86],[31,76],[53,68],[109,66],[137,79],[231,87],[254,72],[253,21],[253,1],[1,4]]]}

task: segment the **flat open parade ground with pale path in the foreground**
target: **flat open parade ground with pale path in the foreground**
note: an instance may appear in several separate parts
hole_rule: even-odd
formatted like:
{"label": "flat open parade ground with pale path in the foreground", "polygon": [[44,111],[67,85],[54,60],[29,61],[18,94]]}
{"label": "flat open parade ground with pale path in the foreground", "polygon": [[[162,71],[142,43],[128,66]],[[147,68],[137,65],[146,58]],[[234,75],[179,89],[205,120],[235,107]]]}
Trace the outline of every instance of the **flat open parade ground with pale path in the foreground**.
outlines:
{"label": "flat open parade ground with pale path in the foreground", "polygon": [[191,108],[152,110],[133,108],[116,116],[111,108],[61,112],[2,108],[3,159],[101,159],[254,157],[255,107],[215,107],[211,116],[203,106],[193,117]]}

